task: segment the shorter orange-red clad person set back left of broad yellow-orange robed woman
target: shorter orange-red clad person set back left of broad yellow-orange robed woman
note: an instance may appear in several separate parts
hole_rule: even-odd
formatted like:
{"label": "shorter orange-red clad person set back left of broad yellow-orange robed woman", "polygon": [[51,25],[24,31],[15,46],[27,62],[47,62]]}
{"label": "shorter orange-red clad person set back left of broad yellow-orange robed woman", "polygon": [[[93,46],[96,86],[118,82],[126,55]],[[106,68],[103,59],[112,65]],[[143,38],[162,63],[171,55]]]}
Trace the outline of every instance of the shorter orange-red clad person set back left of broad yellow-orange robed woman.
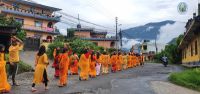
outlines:
{"label": "shorter orange-red clad person set back left of broad yellow-orange robed woman", "polygon": [[78,75],[78,55],[74,52],[73,55],[70,56],[70,74],[71,75]]}

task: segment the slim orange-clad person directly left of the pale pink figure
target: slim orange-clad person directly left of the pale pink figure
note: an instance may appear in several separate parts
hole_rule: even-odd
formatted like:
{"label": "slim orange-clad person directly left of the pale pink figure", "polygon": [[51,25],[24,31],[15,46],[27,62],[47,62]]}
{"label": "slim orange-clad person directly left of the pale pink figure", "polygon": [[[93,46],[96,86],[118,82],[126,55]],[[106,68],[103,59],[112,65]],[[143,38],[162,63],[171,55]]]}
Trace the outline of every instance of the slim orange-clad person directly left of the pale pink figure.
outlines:
{"label": "slim orange-clad person directly left of the pale pink figure", "polygon": [[90,62],[90,72],[89,75],[91,78],[95,78],[97,75],[96,72],[96,60],[97,60],[97,56],[95,54],[95,52],[92,52],[91,54],[91,62]]}

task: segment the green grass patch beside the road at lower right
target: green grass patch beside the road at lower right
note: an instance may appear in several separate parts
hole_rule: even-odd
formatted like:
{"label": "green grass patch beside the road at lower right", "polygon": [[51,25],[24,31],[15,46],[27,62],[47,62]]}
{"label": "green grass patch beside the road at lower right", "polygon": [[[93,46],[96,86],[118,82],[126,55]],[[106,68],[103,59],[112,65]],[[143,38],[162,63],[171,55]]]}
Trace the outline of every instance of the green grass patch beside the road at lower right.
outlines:
{"label": "green grass patch beside the road at lower right", "polygon": [[172,73],[169,80],[174,84],[200,91],[200,68]]}

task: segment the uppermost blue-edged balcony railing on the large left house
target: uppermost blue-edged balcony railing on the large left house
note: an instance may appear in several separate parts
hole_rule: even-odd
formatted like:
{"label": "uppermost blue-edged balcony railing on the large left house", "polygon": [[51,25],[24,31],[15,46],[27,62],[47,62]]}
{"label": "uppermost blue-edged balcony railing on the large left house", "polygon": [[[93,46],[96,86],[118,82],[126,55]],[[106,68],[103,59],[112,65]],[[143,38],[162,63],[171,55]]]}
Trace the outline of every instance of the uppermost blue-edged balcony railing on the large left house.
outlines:
{"label": "uppermost blue-edged balcony railing on the large left house", "polygon": [[2,12],[6,12],[6,13],[21,15],[21,16],[28,16],[28,17],[44,19],[44,20],[49,20],[49,21],[56,21],[56,22],[59,22],[60,17],[61,17],[61,16],[48,15],[48,14],[39,13],[39,12],[34,13],[34,12],[31,12],[30,10],[25,10],[25,9],[21,9],[21,8],[6,7],[6,6],[0,6],[0,10]]}

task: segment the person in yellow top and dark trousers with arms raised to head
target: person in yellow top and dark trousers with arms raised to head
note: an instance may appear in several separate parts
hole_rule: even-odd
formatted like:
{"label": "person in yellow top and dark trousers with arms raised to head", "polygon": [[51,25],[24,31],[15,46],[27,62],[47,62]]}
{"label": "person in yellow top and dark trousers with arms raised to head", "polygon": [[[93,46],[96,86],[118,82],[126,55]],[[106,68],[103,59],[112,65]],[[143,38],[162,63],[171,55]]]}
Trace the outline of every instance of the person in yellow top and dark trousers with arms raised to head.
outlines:
{"label": "person in yellow top and dark trousers with arms raised to head", "polygon": [[17,84],[17,82],[15,81],[15,75],[17,74],[17,70],[18,70],[18,63],[20,61],[20,57],[19,57],[19,51],[23,49],[23,42],[13,36],[11,38],[11,46],[9,47],[9,75],[12,75],[12,83],[13,86],[19,86],[19,84]]}

